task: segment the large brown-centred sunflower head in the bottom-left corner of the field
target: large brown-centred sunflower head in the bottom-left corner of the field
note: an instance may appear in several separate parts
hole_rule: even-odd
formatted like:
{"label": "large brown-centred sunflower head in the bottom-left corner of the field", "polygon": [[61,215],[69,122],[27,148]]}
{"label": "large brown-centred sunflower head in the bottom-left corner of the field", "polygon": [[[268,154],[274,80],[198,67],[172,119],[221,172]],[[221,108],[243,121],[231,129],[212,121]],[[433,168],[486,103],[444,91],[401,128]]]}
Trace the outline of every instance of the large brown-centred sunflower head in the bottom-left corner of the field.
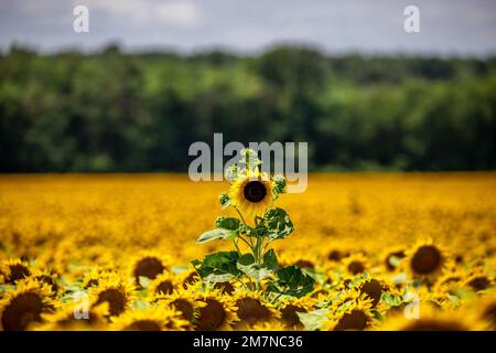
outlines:
{"label": "large brown-centred sunflower head in the bottom-left corner of the field", "polygon": [[50,295],[48,285],[30,279],[19,281],[17,289],[7,292],[0,301],[1,329],[24,331],[42,322],[42,314],[54,309]]}

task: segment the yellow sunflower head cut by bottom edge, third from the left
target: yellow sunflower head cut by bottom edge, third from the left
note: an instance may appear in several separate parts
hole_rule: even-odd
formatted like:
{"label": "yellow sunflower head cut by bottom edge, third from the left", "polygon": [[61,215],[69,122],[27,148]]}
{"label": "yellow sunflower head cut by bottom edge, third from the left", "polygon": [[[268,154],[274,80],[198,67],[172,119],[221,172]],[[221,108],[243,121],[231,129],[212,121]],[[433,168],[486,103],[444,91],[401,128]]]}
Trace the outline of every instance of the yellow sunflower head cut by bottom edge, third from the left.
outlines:
{"label": "yellow sunflower head cut by bottom edge, third from the left", "polygon": [[126,311],[111,322],[116,331],[184,331],[188,325],[180,312],[163,304]]}

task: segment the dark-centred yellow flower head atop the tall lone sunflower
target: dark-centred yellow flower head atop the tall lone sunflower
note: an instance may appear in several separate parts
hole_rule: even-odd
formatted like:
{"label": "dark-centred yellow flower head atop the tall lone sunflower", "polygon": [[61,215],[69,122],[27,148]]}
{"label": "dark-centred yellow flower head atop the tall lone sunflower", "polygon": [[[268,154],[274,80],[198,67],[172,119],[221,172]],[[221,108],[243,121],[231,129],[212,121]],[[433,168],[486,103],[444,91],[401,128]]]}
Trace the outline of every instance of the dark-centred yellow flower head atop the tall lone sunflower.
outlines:
{"label": "dark-centred yellow flower head atop the tall lone sunflower", "polygon": [[272,204],[272,182],[265,173],[248,170],[233,182],[229,197],[242,214],[261,215]]}

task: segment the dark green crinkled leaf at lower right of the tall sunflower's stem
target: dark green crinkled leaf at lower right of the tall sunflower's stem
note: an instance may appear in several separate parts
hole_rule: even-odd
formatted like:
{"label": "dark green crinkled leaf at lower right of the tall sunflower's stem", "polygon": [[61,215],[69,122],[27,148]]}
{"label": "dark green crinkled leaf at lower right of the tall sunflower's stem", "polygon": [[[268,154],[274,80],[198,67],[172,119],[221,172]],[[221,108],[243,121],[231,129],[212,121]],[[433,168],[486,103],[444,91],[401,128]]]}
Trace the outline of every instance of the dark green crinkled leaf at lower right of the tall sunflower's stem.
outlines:
{"label": "dark green crinkled leaf at lower right of the tall sunflower's stem", "polygon": [[277,279],[268,286],[269,291],[301,298],[313,291],[315,280],[301,268],[289,266],[276,272]]}

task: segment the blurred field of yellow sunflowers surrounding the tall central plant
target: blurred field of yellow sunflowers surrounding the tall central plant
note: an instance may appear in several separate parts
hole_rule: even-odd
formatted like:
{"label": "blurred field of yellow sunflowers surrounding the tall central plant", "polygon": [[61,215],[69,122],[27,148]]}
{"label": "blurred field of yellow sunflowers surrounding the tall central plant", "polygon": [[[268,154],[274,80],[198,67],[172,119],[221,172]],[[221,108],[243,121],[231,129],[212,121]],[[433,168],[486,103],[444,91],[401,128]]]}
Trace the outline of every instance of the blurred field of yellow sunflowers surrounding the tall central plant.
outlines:
{"label": "blurred field of yellow sunflowers surrounding the tall central plant", "polygon": [[191,260],[224,182],[1,175],[2,330],[494,330],[496,174],[312,174],[280,205],[301,298],[208,285]]}

